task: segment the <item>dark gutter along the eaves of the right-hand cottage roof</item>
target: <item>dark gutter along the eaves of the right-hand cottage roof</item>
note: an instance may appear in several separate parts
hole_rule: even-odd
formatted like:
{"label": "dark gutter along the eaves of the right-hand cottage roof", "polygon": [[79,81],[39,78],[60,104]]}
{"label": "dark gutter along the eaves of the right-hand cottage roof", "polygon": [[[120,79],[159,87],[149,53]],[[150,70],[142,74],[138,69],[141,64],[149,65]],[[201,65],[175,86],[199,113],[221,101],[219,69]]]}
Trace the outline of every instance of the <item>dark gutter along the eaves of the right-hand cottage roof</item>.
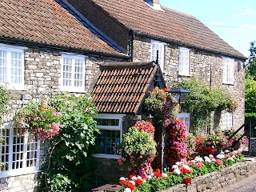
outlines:
{"label": "dark gutter along the eaves of the right-hand cottage roof", "polygon": [[227,54],[227,53],[222,52],[222,51],[216,51],[216,50],[212,50],[212,49],[202,48],[200,46],[194,46],[193,44],[190,44],[190,43],[180,42],[180,41],[177,41],[177,40],[174,40],[174,39],[162,38],[162,37],[159,37],[159,36],[154,35],[154,34],[146,34],[146,33],[140,32],[138,30],[134,30],[134,34],[137,34],[139,36],[146,37],[146,38],[154,38],[154,39],[157,39],[161,42],[173,43],[173,44],[178,45],[178,46],[188,46],[190,48],[194,48],[194,49],[197,49],[197,50],[204,50],[206,52],[210,52],[210,53],[214,53],[214,54],[222,54],[222,55],[229,56],[229,57],[232,57],[232,58],[239,58],[239,59],[242,59],[242,60],[247,59],[245,56],[242,57],[242,56],[238,56],[238,55],[235,55],[235,54]]}

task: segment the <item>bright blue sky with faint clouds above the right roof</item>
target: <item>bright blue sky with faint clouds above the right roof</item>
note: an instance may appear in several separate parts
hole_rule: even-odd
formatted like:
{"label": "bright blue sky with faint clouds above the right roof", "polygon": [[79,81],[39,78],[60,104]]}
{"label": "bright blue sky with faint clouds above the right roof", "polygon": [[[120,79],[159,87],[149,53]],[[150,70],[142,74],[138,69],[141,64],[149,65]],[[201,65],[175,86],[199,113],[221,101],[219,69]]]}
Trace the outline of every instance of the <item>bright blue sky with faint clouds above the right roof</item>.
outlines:
{"label": "bright blue sky with faint clouds above the right roof", "polygon": [[256,0],[160,0],[162,6],[192,14],[220,38],[249,56],[256,41]]}

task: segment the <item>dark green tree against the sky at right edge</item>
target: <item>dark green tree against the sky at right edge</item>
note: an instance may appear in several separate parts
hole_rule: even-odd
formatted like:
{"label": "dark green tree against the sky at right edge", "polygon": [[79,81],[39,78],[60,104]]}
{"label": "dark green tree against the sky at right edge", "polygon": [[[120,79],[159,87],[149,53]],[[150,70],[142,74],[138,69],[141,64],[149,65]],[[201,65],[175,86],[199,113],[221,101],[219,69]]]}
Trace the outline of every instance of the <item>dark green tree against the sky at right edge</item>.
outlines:
{"label": "dark green tree against the sky at right edge", "polygon": [[250,42],[249,66],[246,67],[246,79],[256,80],[256,41]]}

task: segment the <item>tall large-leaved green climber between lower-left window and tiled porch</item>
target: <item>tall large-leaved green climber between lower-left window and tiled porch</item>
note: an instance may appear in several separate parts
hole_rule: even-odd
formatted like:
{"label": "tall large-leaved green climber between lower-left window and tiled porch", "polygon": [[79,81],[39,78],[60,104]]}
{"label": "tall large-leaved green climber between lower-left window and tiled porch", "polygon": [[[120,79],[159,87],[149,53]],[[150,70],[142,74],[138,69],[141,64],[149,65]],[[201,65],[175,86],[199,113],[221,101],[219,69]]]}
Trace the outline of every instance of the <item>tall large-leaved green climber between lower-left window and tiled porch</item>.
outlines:
{"label": "tall large-leaved green climber between lower-left window and tiled porch", "polygon": [[42,166],[40,191],[88,191],[93,183],[96,114],[90,95],[57,94],[49,105],[62,113],[62,130],[50,140],[48,158]]}

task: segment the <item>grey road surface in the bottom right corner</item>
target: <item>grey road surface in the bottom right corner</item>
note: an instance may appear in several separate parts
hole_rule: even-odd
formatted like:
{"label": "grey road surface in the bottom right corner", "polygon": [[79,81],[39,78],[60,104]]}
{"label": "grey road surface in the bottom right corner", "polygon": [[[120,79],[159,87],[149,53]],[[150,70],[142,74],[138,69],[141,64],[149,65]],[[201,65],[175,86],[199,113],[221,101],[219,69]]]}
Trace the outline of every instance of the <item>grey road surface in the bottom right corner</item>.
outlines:
{"label": "grey road surface in the bottom right corner", "polygon": [[256,192],[256,173],[216,192]]}

